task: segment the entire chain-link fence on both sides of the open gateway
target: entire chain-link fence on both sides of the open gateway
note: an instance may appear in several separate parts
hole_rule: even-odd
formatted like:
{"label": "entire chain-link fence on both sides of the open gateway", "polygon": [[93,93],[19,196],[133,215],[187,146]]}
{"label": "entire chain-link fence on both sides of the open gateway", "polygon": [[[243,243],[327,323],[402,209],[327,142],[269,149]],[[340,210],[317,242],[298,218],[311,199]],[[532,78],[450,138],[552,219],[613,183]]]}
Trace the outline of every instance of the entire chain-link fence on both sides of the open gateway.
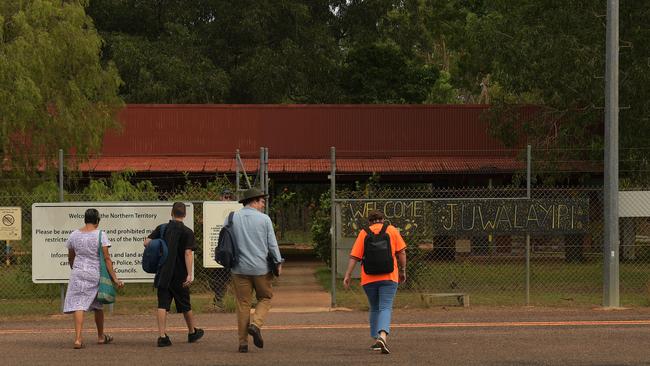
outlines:
{"label": "entire chain-link fence on both sides of the open gateway", "polygon": [[[422,188],[424,187],[424,188]],[[639,189],[643,191],[643,189]],[[646,189],[647,191],[647,189]],[[643,192],[642,192],[643,193]],[[644,193],[643,193],[644,194]],[[203,201],[199,196],[144,192],[121,201],[191,201],[196,236],[193,306],[200,311],[234,308],[232,296],[215,306],[215,291],[227,290],[228,276],[205,268]],[[54,314],[61,310],[60,284],[32,282],[32,204],[58,202],[56,193],[1,196],[0,207],[22,211],[22,238],[1,253],[0,316]],[[66,201],[96,201],[66,194]],[[418,188],[378,186],[337,192],[337,272],[342,275],[350,247],[367,213],[382,210],[405,237],[408,281],[397,304],[455,305],[463,294],[476,305],[598,306],[603,296],[603,203],[601,187],[535,188],[530,199],[520,188]],[[650,202],[621,201],[620,297],[623,306],[650,303]],[[80,223],[81,226],[81,223]],[[153,229],[153,228],[150,228]],[[358,267],[357,267],[358,270]],[[341,285],[340,278],[337,286]],[[113,311],[149,312],[156,296],[149,283],[129,283]],[[337,287],[338,305],[365,306],[358,283]]]}

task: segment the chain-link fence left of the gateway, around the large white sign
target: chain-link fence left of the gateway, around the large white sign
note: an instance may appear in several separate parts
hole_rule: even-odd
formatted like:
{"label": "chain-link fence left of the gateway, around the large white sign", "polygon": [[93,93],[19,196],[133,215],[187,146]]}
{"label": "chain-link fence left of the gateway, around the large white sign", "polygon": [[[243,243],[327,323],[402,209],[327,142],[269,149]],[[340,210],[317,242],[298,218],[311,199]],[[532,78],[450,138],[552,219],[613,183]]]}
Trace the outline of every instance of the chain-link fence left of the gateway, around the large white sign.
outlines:
{"label": "chain-link fence left of the gateway, around the large white sign", "polygon": [[[202,202],[171,193],[149,195],[147,197],[134,196],[133,200],[193,202],[196,251],[192,306],[200,309],[201,312],[233,311],[235,305],[229,291],[229,272],[203,266]],[[91,196],[82,194],[66,194],[65,199],[69,202],[93,201]],[[58,202],[58,196],[35,193],[0,197],[0,207],[20,207],[22,214],[22,238],[18,241],[4,242],[1,248],[0,316],[42,315],[61,311],[66,285],[32,282],[32,204],[46,202]],[[93,207],[93,203],[88,202],[88,207]],[[79,220],[79,227],[81,226],[83,226],[83,220]],[[147,229],[153,230],[154,227]],[[115,258],[113,260],[115,261]],[[221,301],[217,301],[217,299]],[[115,313],[150,312],[156,303],[156,292],[151,283],[127,283],[124,289],[118,291],[118,301],[113,305],[112,311]]]}

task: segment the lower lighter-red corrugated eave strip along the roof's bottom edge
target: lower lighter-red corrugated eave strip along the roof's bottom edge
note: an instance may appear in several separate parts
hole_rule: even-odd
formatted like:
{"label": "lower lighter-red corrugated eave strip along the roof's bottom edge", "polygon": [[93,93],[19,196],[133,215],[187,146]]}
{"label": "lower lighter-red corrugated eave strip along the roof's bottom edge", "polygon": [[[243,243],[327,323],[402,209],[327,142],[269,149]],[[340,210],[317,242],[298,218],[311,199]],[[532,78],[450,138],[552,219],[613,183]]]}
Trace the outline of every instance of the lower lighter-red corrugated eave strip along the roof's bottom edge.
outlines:
{"label": "lower lighter-red corrugated eave strip along the roof's bottom edge", "polygon": [[[243,159],[247,172],[257,171],[258,161]],[[523,163],[515,158],[460,158],[422,157],[391,159],[337,159],[339,173],[468,173],[499,172],[522,169]],[[138,172],[209,172],[234,173],[234,159],[213,157],[100,157],[80,166],[82,171],[115,172],[134,170]],[[330,163],[326,159],[275,159],[269,161],[269,173],[329,173]]]}

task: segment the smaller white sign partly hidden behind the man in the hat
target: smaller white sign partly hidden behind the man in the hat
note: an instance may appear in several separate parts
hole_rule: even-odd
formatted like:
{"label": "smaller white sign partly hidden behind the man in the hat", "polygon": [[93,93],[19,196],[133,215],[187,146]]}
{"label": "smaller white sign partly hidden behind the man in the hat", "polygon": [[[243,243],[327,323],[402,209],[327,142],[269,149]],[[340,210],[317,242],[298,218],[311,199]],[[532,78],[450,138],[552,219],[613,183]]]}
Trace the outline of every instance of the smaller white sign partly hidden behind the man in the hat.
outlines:
{"label": "smaller white sign partly hidden behind the man in the hat", "polygon": [[219,231],[228,218],[228,214],[242,208],[234,201],[203,202],[203,267],[223,268],[214,260],[214,250],[219,241]]}

